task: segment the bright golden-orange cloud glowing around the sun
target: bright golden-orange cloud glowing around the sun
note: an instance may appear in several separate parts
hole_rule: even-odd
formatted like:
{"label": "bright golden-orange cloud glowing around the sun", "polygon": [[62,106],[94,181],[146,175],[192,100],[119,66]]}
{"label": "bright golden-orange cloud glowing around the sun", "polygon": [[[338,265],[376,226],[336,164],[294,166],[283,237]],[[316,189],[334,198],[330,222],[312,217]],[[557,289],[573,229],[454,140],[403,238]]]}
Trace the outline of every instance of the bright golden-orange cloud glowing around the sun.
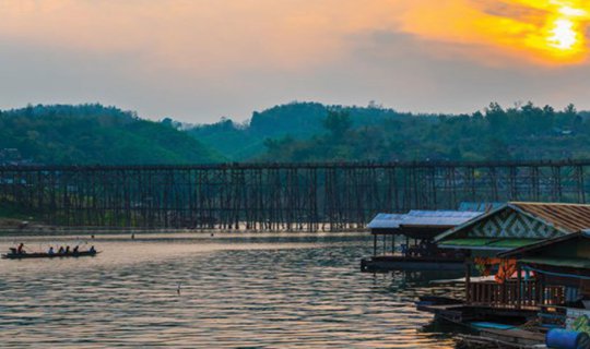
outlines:
{"label": "bright golden-orange cloud glowing around the sun", "polygon": [[462,52],[492,64],[524,59],[563,65],[586,62],[589,20],[583,1],[416,0],[401,27],[423,39],[474,47]]}

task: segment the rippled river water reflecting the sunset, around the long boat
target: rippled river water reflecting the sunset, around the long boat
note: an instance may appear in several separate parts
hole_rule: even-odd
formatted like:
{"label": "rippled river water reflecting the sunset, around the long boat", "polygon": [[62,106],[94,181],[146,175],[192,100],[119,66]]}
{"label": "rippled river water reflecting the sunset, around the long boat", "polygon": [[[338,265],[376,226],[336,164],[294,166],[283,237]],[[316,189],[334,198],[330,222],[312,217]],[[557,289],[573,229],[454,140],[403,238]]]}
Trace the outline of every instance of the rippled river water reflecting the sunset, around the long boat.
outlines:
{"label": "rippled river water reflecting the sunset, around the long boat", "polygon": [[362,274],[367,234],[87,239],[0,238],[103,251],[0,261],[0,347],[453,347],[413,302],[457,275]]}

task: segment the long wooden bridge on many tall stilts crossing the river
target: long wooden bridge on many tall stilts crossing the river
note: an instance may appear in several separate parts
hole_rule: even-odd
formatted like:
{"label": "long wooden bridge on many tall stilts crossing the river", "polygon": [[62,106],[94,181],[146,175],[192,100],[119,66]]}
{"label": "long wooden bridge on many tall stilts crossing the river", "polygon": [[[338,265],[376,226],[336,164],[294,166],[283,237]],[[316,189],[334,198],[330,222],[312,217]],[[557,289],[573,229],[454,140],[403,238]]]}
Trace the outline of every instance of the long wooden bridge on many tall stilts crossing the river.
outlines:
{"label": "long wooden bridge on many tall stilts crossing the river", "polygon": [[60,226],[342,230],[460,202],[586,203],[590,160],[3,166],[0,203]]}

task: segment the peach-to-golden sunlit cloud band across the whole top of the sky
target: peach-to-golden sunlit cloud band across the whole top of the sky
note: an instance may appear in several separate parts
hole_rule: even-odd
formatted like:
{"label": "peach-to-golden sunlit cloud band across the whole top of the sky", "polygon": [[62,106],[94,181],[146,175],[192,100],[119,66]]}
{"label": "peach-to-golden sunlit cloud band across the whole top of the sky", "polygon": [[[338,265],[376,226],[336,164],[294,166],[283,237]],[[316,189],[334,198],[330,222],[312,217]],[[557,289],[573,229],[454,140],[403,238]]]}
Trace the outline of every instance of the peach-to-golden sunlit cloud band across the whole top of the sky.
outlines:
{"label": "peach-to-golden sunlit cloud band across the whole top of the sky", "polygon": [[[298,70],[344,59],[376,32],[486,64],[586,62],[580,0],[0,0],[0,38],[125,55],[145,74]],[[430,45],[439,43],[440,45]],[[377,48],[378,49],[378,48]],[[394,64],[394,62],[392,62]]]}

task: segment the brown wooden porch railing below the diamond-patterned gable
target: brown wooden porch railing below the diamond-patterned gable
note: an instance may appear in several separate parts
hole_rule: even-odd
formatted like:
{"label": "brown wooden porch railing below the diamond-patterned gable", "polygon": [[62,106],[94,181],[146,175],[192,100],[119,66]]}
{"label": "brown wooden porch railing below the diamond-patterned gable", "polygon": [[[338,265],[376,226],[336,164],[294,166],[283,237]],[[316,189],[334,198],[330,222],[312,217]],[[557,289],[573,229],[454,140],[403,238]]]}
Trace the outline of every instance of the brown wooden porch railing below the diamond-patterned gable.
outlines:
{"label": "brown wooden porch railing below the diamond-patterned gable", "polygon": [[565,301],[564,287],[543,287],[534,280],[521,281],[520,287],[516,280],[471,282],[467,291],[468,303],[493,308],[536,308]]}

